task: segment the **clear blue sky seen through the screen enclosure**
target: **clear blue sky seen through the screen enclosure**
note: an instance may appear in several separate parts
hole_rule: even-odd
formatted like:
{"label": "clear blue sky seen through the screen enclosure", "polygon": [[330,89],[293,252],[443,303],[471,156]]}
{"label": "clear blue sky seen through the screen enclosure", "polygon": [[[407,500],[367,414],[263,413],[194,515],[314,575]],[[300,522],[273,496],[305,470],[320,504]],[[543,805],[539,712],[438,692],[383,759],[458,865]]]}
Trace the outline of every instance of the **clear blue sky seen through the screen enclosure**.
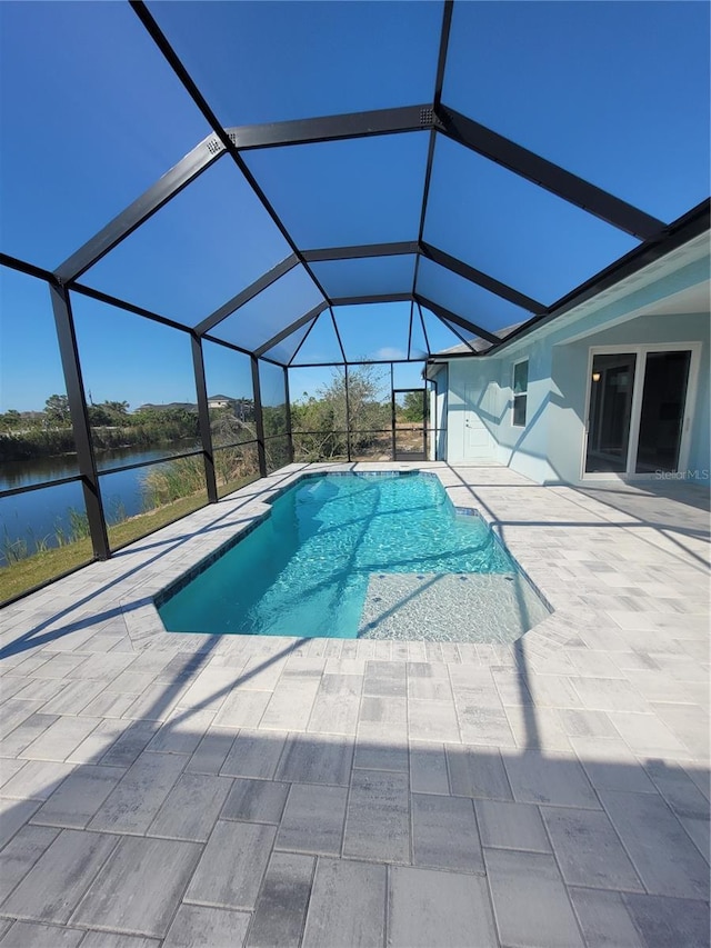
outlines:
{"label": "clear blue sky seen through the screen enclosure", "polygon": [[[431,99],[439,2],[149,6],[226,126]],[[52,269],[210,129],[128,3],[10,0],[0,27],[1,249]],[[704,2],[460,2],[443,99],[669,221],[709,193],[708,36]],[[247,162],[304,249],[414,240],[427,144],[425,133],[390,136]],[[441,137],[424,237],[544,303],[635,246]],[[289,252],[221,159],[82,279],[190,325]],[[395,291],[411,265],[316,270],[329,292],[349,296]],[[434,265],[420,277],[428,296],[489,328],[525,316]],[[299,289],[296,273],[282,280],[226,322],[223,338],[257,345],[290,302],[296,318],[318,299],[308,278]],[[38,409],[62,388],[48,293],[16,273],[2,275],[1,292],[0,410]],[[193,400],[183,333],[87,299],[76,311],[94,401]],[[349,358],[407,349],[409,303],[337,312]],[[332,350],[328,319],[303,347],[314,361]],[[458,341],[441,327],[432,335],[435,347]],[[214,357],[211,393],[243,393],[249,376],[232,355]],[[313,370],[310,386],[323,376]]]}

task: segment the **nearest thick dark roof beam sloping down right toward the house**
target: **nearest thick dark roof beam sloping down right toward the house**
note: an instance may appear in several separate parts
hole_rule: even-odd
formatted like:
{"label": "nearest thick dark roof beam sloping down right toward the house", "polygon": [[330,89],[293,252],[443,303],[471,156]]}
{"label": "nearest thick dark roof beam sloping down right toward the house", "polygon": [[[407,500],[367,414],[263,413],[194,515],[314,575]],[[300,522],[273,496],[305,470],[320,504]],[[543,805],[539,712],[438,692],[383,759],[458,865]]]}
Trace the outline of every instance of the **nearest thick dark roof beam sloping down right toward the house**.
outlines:
{"label": "nearest thick dark roof beam sloping down right toward the house", "polygon": [[497,164],[508,168],[509,171],[520,174],[528,181],[640,240],[649,240],[665,227],[663,221],[628,204],[627,201],[615,198],[577,174],[565,171],[552,161],[541,158],[454,109],[442,107],[438,111],[438,119],[441,122],[440,130],[459,144],[495,161]]}

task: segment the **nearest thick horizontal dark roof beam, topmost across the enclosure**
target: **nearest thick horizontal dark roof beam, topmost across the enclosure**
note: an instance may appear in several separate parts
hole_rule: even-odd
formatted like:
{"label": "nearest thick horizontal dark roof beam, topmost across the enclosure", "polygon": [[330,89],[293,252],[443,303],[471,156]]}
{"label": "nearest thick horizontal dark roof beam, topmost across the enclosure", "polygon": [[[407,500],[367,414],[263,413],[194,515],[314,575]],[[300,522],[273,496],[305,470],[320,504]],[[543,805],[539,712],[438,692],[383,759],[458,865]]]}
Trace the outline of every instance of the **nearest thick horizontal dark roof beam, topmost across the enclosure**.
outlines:
{"label": "nearest thick horizontal dark roof beam, topmost across the enclosure", "polygon": [[422,131],[431,128],[432,122],[432,106],[423,104],[237,126],[226,129],[226,132],[238,151],[251,151],[256,148],[281,148],[289,144],[312,144],[346,138]]}

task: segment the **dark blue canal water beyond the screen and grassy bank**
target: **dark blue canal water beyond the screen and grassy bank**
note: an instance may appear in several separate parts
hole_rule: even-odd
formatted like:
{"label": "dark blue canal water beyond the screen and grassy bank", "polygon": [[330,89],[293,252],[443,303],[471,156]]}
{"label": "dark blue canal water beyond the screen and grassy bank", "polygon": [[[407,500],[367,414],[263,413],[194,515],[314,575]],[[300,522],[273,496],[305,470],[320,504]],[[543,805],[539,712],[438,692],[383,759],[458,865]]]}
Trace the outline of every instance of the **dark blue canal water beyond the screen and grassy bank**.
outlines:
{"label": "dark blue canal water beyond the screen and grassy bank", "polygon": [[[179,455],[193,448],[193,440],[163,445],[150,450],[122,448],[102,451],[97,461],[100,470],[109,470],[167,456],[169,458],[170,455]],[[110,523],[143,511],[143,479],[151,469],[152,466],[133,468],[100,478],[101,497]],[[0,465],[0,490],[76,477],[77,473],[74,455],[6,461]],[[49,547],[58,546],[58,532],[69,535],[71,529],[72,509],[80,513],[84,510],[83,491],[79,482],[0,498],[0,566],[7,562],[6,551],[11,543],[27,543],[28,552],[33,552],[43,543]]]}

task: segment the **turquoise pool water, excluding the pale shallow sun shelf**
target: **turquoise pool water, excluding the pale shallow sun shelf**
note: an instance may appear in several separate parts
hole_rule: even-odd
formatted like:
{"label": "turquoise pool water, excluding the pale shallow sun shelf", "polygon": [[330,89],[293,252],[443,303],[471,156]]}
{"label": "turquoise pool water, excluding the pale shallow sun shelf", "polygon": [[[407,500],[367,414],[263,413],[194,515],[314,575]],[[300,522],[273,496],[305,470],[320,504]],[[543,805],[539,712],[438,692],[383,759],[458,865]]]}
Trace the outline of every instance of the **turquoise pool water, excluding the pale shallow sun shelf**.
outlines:
{"label": "turquoise pool water, excluding the pale shallow sun shelf", "polygon": [[513,572],[485,523],[457,513],[435,477],[327,475],[277,498],[159,612],[177,632],[354,638],[373,576]]}

